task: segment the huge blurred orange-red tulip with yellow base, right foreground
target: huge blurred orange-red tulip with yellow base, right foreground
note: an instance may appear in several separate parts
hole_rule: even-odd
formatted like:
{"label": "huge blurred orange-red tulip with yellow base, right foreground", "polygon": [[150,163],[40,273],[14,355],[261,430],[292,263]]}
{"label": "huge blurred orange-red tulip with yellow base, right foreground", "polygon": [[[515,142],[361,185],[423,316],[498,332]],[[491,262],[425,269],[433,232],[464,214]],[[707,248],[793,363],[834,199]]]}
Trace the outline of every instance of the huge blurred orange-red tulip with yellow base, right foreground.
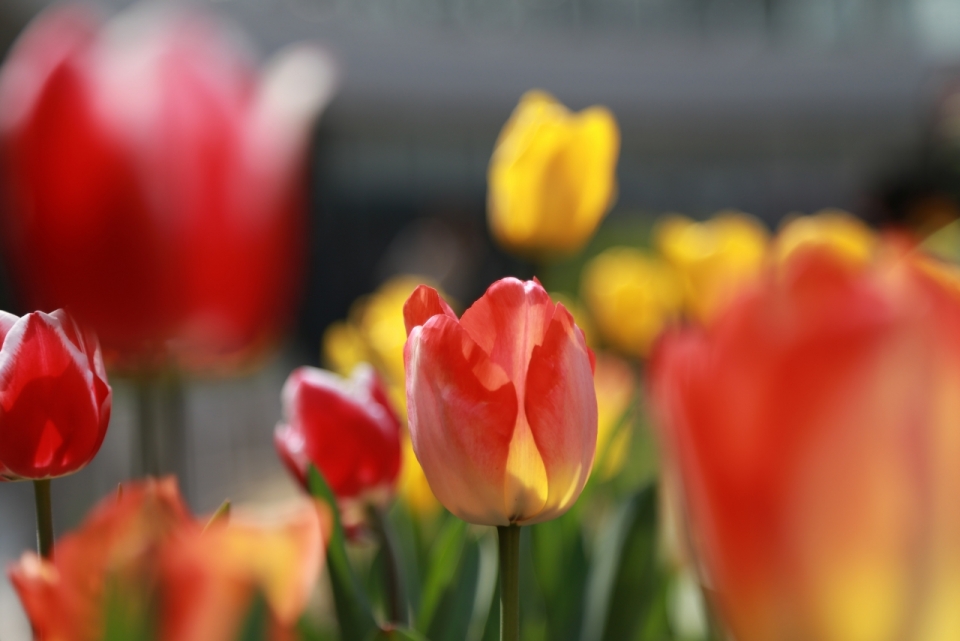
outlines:
{"label": "huge blurred orange-red tulip with yellow base, right foreground", "polygon": [[902,251],[794,253],[652,360],[700,578],[740,641],[960,638],[960,280]]}

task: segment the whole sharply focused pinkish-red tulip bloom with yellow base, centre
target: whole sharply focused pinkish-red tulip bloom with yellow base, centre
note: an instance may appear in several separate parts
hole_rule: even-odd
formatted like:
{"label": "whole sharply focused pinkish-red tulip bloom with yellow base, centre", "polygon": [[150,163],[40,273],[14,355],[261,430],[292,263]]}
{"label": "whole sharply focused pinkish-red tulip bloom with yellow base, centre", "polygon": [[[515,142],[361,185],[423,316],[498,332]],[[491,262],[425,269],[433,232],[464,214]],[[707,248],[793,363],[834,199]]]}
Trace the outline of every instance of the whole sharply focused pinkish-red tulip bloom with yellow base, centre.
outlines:
{"label": "whole sharply focused pinkish-red tulip bloom with yellow base, centre", "polygon": [[461,318],[421,286],[404,306],[407,411],[437,499],[480,525],[556,518],[593,465],[593,354],[536,281],[497,281]]}

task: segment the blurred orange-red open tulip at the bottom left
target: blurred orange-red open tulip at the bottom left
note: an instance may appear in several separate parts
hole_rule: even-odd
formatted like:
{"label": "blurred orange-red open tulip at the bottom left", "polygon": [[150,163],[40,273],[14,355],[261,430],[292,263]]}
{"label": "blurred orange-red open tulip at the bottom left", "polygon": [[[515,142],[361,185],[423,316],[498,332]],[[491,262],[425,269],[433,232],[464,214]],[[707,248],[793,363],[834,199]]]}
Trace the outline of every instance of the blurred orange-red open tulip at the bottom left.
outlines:
{"label": "blurred orange-red open tulip at the bottom left", "polygon": [[310,502],[272,525],[231,518],[204,530],[172,478],[132,483],[53,559],[25,553],[10,579],[44,641],[100,641],[107,627],[109,638],[232,640],[258,593],[269,638],[289,638],[322,567],[329,512]]}

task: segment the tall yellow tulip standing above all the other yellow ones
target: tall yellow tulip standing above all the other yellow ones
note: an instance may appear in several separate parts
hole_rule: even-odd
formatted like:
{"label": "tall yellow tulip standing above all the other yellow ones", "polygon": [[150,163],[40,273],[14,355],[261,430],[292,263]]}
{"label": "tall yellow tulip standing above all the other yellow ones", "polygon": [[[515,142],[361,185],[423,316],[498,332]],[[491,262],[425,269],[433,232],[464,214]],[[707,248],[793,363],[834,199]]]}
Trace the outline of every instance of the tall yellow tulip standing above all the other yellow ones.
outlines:
{"label": "tall yellow tulip standing above all the other yellow ones", "polygon": [[619,151],[617,121],[606,108],[571,114],[547,93],[524,94],[490,159],[494,238],[535,257],[579,250],[613,203]]}

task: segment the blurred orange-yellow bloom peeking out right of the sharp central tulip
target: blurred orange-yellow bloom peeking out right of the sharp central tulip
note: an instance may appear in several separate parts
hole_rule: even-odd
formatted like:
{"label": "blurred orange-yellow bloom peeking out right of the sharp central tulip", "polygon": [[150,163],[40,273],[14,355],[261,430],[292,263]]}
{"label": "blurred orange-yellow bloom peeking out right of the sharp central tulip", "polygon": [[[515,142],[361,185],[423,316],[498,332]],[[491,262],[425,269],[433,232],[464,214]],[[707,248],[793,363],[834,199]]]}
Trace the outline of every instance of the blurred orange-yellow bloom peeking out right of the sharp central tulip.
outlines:
{"label": "blurred orange-yellow bloom peeking out right of the sharp central tulip", "polygon": [[597,466],[601,478],[623,469],[630,448],[631,429],[626,416],[637,381],[633,370],[613,354],[597,353],[593,387],[597,392]]}

